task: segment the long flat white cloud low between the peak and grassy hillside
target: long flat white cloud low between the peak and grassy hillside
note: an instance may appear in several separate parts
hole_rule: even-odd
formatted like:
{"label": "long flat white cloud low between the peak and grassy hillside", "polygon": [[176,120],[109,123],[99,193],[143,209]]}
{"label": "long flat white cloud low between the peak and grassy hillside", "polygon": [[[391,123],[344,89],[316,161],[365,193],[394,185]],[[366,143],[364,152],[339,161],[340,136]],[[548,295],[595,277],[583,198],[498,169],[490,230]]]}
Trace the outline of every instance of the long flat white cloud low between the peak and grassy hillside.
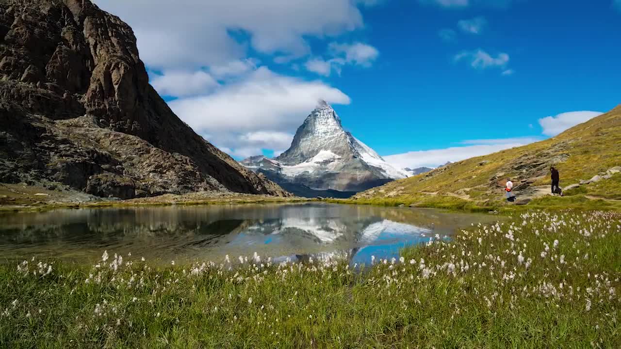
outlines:
{"label": "long flat white cloud low between the peak and grassy hillside", "polygon": [[[486,141],[493,141],[485,143]],[[514,147],[520,147],[531,143],[530,140],[524,138],[516,140],[515,138],[507,138],[505,142],[502,140],[481,140],[478,145],[469,145],[466,147],[451,147],[445,149],[420,150],[417,152],[407,152],[396,155],[382,156],[384,160],[398,168],[417,168],[422,166],[437,167],[445,164],[447,161],[461,161],[474,156],[487,155],[500,150]]]}

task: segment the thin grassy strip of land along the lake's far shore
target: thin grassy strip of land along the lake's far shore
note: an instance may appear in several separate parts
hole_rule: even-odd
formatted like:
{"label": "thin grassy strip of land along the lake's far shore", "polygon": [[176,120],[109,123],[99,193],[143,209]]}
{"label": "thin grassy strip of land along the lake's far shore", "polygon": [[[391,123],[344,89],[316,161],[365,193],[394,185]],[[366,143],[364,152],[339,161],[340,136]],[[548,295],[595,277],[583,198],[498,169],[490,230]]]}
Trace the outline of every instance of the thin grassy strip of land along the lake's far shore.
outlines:
{"label": "thin grassy strip of land along the lake's far shore", "polygon": [[[83,209],[98,207],[148,207],[148,206],[201,206],[227,204],[273,204],[291,202],[329,202],[334,204],[355,204],[384,207],[415,207],[443,209],[450,212],[523,212],[529,209],[580,209],[586,211],[605,210],[621,211],[621,202],[599,199],[584,194],[557,197],[546,196],[534,199],[527,205],[515,205],[499,199],[494,202],[478,202],[460,199],[453,196],[432,196],[420,194],[415,197],[385,197],[383,199],[333,199],[324,197],[279,197],[262,194],[242,193],[209,193],[196,192],[188,194],[164,194],[154,197],[143,197],[127,200],[111,200],[95,198],[96,201],[71,202],[70,194],[49,191],[37,186],[21,186],[18,184],[0,184],[0,212],[48,211],[53,209]],[[0,188],[0,189],[2,189]],[[17,193],[17,194],[16,194]]]}

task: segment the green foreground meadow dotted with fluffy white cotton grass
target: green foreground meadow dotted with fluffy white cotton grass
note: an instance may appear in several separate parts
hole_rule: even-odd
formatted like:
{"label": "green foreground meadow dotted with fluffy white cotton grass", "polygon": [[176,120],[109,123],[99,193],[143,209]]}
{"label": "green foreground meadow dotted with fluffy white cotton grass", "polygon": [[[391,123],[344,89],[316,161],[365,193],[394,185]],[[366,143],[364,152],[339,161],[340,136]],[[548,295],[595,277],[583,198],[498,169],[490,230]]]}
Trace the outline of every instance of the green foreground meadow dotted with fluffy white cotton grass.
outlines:
{"label": "green foreground meadow dotted with fluffy white cotton grass", "polygon": [[[117,270],[112,256],[93,267],[7,263],[0,343],[619,348],[619,245],[619,213],[529,211],[451,242],[407,248],[403,263],[376,261],[363,272],[342,261],[252,265],[252,258],[232,270],[139,256],[124,256]],[[45,263],[53,263],[49,274]]]}

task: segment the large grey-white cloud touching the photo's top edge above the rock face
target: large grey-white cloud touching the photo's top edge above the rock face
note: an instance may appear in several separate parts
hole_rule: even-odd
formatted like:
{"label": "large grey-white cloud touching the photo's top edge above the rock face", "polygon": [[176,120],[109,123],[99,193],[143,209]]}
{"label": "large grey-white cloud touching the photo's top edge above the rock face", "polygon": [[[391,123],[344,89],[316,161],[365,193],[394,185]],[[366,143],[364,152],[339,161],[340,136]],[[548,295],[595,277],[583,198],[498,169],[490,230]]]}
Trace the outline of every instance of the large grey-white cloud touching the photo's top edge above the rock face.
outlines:
{"label": "large grey-white cloud touching the photo's top edge above the rock face", "polygon": [[155,69],[199,68],[261,53],[301,57],[305,37],[335,37],[363,27],[366,0],[94,0],[129,23],[140,56]]}

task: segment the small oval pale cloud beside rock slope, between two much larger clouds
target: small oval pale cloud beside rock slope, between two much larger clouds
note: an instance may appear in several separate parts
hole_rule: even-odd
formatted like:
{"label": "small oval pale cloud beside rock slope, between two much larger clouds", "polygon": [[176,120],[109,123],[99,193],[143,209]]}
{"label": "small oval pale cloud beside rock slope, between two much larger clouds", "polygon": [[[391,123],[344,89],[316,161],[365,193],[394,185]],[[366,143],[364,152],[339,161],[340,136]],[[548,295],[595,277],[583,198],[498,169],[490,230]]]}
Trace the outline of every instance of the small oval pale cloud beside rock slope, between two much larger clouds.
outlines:
{"label": "small oval pale cloud beside rock slope, between two much larger clouds", "polygon": [[211,75],[202,70],[165,71],[164,75],[151,75],[153,88],[162,96],[193,96],[206,93],[219,86]]}

